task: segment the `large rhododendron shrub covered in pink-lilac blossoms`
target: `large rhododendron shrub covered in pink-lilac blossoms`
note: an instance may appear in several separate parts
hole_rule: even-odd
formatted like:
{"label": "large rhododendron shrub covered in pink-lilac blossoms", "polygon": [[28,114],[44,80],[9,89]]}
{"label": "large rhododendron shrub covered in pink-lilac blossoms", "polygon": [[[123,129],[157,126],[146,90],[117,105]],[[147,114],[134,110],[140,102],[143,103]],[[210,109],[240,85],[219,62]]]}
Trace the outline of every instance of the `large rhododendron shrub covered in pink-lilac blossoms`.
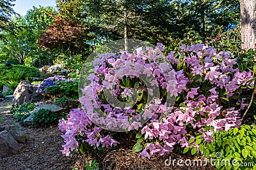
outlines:
{"label": "large rhododendron shrub covered in pink-lilac blossoms", "polygon": [[133,150],[142,157],[177,148],[199,152],[194,138],[211,142],[212,132],[241,125],[239,111],[247,104],[240,94],[252,73],[240,73],[232,53],[202,44],[182,45],[167,56],[163,50],[157,44],[143,53],[99,55],[82,90],[83,106],[60,120],[65,155],[122,144],[123,131],[136,134],[129,139],[138,139]]}

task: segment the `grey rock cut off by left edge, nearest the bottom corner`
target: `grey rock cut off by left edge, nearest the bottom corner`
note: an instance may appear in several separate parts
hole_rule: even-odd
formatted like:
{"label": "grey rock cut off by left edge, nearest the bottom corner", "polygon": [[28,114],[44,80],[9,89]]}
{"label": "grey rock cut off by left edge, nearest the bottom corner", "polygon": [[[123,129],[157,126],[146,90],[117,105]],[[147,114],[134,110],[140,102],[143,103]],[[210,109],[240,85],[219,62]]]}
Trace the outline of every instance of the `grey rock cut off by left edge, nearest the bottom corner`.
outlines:
{"label": "grey rock cut off by left edge, nearest the bottom corner", "polygon": [[19,144],[8,131],[0,132],[0,157],[9,157],[19,151]]}

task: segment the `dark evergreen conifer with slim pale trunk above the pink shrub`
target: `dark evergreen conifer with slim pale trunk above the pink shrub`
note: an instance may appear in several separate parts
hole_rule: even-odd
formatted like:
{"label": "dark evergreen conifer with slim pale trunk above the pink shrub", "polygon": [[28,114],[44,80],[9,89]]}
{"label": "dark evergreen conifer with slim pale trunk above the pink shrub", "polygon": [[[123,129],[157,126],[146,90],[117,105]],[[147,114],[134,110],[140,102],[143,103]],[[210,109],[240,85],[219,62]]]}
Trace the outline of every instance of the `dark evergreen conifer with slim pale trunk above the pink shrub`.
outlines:
{"label": "dark evergreen conifer with slim pale trunk above the pink shrub", "polygon": [[86,6],[100,29],[113,39],[121,38],[126,42],[127,38],[132,38],[156,43],[169,37],[170,1],[87,0]]}

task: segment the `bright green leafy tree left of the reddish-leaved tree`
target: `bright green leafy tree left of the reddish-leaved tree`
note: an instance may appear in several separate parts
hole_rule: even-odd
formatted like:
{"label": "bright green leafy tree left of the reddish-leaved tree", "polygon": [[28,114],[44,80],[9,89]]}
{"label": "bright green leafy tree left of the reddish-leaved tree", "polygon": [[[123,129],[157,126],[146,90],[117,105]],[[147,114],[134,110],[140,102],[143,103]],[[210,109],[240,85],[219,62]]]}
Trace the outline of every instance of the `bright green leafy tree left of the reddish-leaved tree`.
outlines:
{"label": "bright green leafy tree left of the reddish-leaved tree", "polygon": [[[54,20],[56,11],[52,7],[33,7],[28,13],[12,18],[13,24],[19,29],[12,32],[2,31],[4,41],[0,43],[0,58],[19,64],[29,64],[40,67],[37,62],[49,63],[51,54],[36,46],[38,35],[44,32]],[[48,59],[45,59],[47,58]]]}

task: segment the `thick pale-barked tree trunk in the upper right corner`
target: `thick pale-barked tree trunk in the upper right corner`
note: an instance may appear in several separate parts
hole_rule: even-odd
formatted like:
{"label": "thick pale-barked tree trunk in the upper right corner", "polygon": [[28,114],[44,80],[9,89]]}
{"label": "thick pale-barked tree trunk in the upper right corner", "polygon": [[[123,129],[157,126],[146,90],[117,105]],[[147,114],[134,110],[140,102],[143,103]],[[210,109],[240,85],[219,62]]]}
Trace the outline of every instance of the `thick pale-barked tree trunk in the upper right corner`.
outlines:
{"label": "thick pale-barked tree trunk in the upper right corner", "polygon": [[241,40],[243,49],[254,49],[256,44],[256,0],[240,0]]}

